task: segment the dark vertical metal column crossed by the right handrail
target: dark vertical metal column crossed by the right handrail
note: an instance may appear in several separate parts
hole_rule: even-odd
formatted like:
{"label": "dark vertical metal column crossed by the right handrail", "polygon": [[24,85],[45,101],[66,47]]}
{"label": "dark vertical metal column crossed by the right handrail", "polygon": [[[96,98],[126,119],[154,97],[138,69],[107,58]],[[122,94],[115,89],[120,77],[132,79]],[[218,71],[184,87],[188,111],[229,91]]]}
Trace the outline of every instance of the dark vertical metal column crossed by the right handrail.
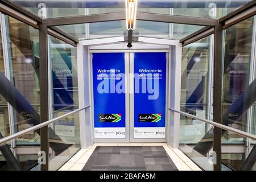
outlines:
{"label": "dark vertical metal column crossed by the right handrail", "polygon": [[[222,24],[214,27],[214,75],[213,75],[213,121],[221,123],[222,117]],[[213,130],[214,171],[221,170],[221,129]]]}

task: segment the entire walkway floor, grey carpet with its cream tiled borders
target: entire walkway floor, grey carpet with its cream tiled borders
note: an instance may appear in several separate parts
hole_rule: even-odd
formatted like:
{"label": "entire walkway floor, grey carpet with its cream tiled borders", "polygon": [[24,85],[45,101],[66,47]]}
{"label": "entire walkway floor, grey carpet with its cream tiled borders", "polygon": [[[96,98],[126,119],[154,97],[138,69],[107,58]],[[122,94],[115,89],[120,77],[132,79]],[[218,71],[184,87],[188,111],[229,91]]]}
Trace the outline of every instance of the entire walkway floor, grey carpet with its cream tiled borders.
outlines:
{"label": "entire walkway floor, grey carpet with its cream tiled borders", "polygon": [[201,170],[179,149],[166,143],[95,143],[81,149],[60,171]]}

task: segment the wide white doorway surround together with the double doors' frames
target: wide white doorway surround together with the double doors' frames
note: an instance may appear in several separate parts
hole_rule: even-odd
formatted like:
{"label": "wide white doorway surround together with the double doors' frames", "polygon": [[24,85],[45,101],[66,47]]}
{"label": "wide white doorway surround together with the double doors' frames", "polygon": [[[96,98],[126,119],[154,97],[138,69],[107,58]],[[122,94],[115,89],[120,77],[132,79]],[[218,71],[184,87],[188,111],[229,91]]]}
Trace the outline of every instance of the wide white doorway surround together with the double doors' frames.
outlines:
{"label": "wide white doorway surround together with the double doors' frames", "polygon": [[[171,144],[171,146],[179,145],[179,115],[175,114],[175,117],[170,111],[168,111],[168,106],[175,105],[176,109],[179,109],[179,103],[175,104],[178,100],[180,100],[179,84],[180,77],[178,74],[180,70],[178,70],[177,65],[181,63],[181,47],[182,44],[177,40],[170,39],[158,39],[158,38],[139,38],[141,42],[134,42],[133,47],[127,48],[127,44],[123,42],[123,37],[115,37],[115,38],[101,38],[95,40],[80,40],[79,44],[77,44],[77,57],[78,61],[81,65],[81,69],[85,68],[83,65],[88,65],[86,69],[79,73],[79,79],[81,83],[80,86],[80,102],[79,105],[84,105],[84,100],[86,100],[86,96],[88,92],[89,97],[87,100],[90,100],[89,105],[91,105],[90,111],[80,114],[80,133],[81,133],[81,146],[89,146],[89,144],[93,143],[130,143],[130,142],[167,142]],[[159,41],[158,41],[159,40]],[[81,50],[84,50],[82,52]],[[87,51],[86,51],[87,50]],[[129,108],[129,120],[126,119],[126,126],[129,127],[129,130],[126,129],[126,139],[94,139],[94,105],[93,105],[93,82],[92,82],[92,53],[106,53],[106,52],[124,52],[134,53],[134,52],[168,52],[167,56],[167,68],[166,68],[166,138],[165,139],[134,139],[134,131],[131,132],[131,124],[130,122],[130,112]],[[86,55],[85,55],[86,54]],[[129,59],[130,61],[130,59]],[[83,67],[82,67],[83,66]],[[127,72],[126,61],[126,72]],[[177,68],[176,68],[177,67]],[[80,70],[81,70],[80,69]],[[130,68],[129,68],[130,69]],[[175,74],[171,74],[171,72],[175,71]],[[172,75],[172,76],[171,76]],[[88,77],[88,78],[86,78]],[[88,80],[89,79],[89,80]],[[171,88],[170,85],[174,85]],[[170,94],[170,92],[174,92],[175,94]],[[81,97],[82,96],[82,97]],[[174,97],[175,96],[175,97]],[[126,96],[127,100],[127,96]],[[131,105],[129,101],[126,101],[127,105]],[[127,111],[126,111],[127,113]],[[127,115],[127,114],[126,114]],[[90,120],[90,121],[88,121]],[[127,122],[128,121],[128,122]],[[132,123],[134,125],[134,123]],[[90,129],[88,128],[90,127]],[[127,128],[127,127],[126,127]],[[131,134],[130,134],[131,133]],[[82,147],[85,148],[85,147]]]}

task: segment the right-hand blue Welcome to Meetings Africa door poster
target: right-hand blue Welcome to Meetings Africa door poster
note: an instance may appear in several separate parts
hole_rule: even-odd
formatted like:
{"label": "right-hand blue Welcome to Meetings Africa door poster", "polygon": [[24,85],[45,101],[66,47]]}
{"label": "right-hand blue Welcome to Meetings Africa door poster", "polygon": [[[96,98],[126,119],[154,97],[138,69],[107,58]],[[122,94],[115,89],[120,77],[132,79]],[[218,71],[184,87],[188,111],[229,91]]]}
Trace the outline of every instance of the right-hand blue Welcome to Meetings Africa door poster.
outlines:
{"label": "right-hand blue Welcome to Meetings Africa door poster", "polygon": [[166,53],[134,54],[134,138],[166,138]]}

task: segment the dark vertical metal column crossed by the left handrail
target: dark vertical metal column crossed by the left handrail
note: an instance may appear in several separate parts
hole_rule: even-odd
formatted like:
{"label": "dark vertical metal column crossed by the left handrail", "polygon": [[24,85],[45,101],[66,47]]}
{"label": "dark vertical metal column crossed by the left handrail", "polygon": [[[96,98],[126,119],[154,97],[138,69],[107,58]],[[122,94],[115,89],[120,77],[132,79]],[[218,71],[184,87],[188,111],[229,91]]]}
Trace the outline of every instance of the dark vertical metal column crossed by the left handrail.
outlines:
{"label": "dark vertical metal column crossed by the left handrail", "polygon": [[[41,123],[49,119],[48,103],[48,39],[47,26],[40,24],[39,44],[40,44],[40,115]],[[41,151],[46,154],[45,164],[41,165],[42,171],[49,169],[49,134],[48,127],[43,127],[41,133]]]}

